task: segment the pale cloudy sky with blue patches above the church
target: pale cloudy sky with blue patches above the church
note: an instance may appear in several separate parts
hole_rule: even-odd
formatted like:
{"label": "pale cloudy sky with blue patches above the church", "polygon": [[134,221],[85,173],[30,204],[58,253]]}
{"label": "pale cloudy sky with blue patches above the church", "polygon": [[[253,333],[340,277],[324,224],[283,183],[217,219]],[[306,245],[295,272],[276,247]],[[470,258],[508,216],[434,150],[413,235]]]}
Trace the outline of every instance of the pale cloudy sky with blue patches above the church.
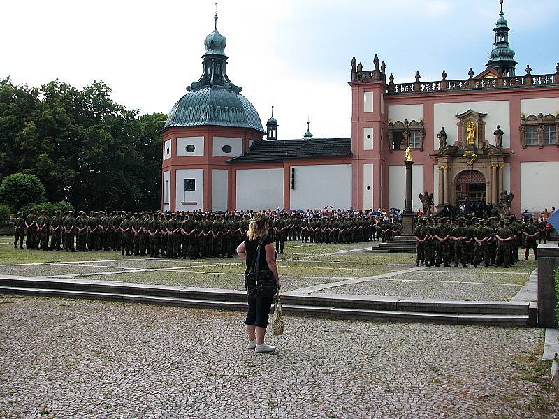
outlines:
{"label": "pale cloudy sky with blue patches above the church", "polygon": [[[537,7],[535,6],[537,3]],[[0,78],[76,87],[103,80],[141,113],[168,113],[201,75],[215,0],[5,0]],[[493,47],[498,0],[218,0],[228,75],[280,139],[351,136],[351,57],[375,54],[395,82],[481,73]],[[505,0],[516,73],[554,73],[558,0]]]}

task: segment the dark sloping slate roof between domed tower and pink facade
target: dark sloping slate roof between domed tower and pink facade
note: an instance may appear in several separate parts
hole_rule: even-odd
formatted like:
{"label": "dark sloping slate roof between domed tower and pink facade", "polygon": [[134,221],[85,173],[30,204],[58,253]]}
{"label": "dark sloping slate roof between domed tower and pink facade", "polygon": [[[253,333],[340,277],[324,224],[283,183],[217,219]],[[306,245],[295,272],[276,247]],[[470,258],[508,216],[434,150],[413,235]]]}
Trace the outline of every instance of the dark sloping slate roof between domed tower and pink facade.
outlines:
{"label": "dark sloping slate roof between domed tower and pink facade", "polygon": [[351,138],[255,141],[249,151],[227,163],[263,163],[292,159],[351,156]]}

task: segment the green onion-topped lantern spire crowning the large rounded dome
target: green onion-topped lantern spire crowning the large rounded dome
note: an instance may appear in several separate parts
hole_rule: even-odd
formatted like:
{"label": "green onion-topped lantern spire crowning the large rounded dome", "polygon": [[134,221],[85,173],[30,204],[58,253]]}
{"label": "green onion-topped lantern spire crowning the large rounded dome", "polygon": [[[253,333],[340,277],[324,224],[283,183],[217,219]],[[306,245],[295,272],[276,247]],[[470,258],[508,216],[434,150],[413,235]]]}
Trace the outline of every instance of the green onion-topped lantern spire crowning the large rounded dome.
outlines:
{"label": "green onion-topped lantern spire crowning the large rounded dome", "polygon": [[201,78],[187,87],[187,91],[200,89],[201,87],[222,86],[235,93],[240,93],[242,88],[235,86],[227,76],[227,59],[225,46],[227,39],[217,31],[217,2],[215,4],[214,31],[205,37],[205,54],[203,58],[203,73]]}

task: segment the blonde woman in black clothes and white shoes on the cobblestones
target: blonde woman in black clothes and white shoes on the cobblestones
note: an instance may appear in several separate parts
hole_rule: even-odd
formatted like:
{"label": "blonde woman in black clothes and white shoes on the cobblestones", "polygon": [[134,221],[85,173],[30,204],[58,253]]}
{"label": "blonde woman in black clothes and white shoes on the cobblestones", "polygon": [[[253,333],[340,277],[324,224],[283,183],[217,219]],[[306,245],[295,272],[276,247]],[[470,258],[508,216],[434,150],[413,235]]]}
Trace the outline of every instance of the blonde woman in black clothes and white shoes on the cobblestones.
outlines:
{"label": "blonde woman in black clothes and white shoes on the cobblestones", "polygon": [[[237,247],[237,253],[242,260],[247,263],[246,273],[251,267],[256,265],[256,255],[258,253],[259,244],[261,246],[259,265],[261,269],[269,269],[273,272],[277,289],[281,288],[279,275],[277,274],[277,265],[275,263],[275,251],[272,238],[268,235],[270,227],[270,218],[265,214],[255,214],[249,224],[247,238]],[[270,315],[270,307],[272,305],[273,296],[247,296],[248,311],[245,325],[249,335],[249,349],[254,349],[256,353],[273,352],[275,346],[269,346],[264,343],[264,335],[268,327],[268,317]]]}

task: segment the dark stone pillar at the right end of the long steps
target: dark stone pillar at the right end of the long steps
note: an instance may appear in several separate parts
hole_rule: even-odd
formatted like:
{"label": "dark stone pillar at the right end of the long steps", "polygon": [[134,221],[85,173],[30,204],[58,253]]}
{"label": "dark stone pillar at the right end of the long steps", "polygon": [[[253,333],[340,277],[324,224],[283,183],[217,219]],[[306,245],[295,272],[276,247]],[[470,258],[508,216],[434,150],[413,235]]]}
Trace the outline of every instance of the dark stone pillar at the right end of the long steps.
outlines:
{"label": "dark stone pillar at the right end of the long steps", "polygon": [[555,278],[553,272],[559,268],[559,247],[555,244],[540,244],[537,247],[537,307],[538,326],[557,328],[555,308]]}

